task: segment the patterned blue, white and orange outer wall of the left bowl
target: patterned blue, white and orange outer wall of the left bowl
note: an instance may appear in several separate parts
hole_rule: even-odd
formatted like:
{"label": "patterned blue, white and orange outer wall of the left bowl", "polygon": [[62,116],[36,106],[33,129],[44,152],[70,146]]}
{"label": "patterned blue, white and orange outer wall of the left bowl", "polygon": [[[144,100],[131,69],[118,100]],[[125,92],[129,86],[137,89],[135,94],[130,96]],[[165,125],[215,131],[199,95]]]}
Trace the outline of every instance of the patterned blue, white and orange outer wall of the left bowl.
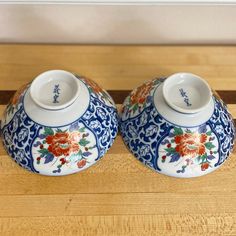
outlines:
{"label": "patterned blue, white and orange outer wall of the left bowl", "polygon": [[108,94],[90,90],[87,111],[75,122],[60,127],[35,123],[23,107],[24,94],[10,104],[2,121],[3,144],[16,163],[35,173],[65,175],[99,160],[118,132],[118,115]]}

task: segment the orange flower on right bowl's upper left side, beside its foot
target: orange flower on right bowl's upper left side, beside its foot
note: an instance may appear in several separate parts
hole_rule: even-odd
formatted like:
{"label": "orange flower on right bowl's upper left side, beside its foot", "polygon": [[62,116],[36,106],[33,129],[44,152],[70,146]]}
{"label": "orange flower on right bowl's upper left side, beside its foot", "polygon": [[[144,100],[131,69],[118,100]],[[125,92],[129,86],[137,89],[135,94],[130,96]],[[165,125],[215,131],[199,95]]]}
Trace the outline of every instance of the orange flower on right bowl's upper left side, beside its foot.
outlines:
{"label": "orange flower on right bowl's upper left side, beside its foot", "polygon": [[130,96],[131,105],[137,103],[143,104],[146,101],[151,88],[152,88],[152,82],[143,84],[142,86],[138,87]]}

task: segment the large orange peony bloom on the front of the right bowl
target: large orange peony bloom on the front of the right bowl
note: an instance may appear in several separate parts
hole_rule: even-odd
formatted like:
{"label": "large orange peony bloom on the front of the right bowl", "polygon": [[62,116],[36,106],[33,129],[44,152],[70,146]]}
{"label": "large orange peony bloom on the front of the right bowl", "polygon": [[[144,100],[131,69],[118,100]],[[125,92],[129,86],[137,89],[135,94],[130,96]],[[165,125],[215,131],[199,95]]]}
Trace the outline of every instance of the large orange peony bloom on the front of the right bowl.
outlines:
{"label": "large orange peony bloom on the front of the right bowl", "polygon": [[203,155],[206,151],[204,145],[206,140],[206,134],[186,133],[177,135],[175,137],[175,143],[177,144],[175,150],[180,156],[189,155],[195,157],[197,155]]}

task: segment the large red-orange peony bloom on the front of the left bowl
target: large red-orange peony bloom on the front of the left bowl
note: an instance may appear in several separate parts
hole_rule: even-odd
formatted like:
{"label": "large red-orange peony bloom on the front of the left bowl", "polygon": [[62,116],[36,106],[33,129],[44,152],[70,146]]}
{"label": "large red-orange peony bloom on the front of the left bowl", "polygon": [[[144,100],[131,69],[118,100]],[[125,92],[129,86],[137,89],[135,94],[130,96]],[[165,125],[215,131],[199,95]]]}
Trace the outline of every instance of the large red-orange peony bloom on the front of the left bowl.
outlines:
{"label": "large red-orange peony bloom on the front of the left bowl", "polygon": [[47,136],[46,142],[49,144],[48,151],[56,157],[62,155],[69,156],[80,149],[78,142],[75,141],[75,137],[71,138],[70,134],[65,132]]}

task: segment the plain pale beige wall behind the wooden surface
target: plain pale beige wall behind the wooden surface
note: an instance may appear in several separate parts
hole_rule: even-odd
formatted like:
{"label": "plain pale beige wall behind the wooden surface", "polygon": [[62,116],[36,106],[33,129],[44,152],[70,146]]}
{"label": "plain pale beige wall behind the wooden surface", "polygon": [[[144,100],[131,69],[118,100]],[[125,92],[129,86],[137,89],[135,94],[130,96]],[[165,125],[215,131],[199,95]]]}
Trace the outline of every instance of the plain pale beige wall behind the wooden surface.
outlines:
{"label": "plain pale beige wall behind the wooden surface", "polygon": [[0,4],[0,42],[235,44],[236,5]]}

